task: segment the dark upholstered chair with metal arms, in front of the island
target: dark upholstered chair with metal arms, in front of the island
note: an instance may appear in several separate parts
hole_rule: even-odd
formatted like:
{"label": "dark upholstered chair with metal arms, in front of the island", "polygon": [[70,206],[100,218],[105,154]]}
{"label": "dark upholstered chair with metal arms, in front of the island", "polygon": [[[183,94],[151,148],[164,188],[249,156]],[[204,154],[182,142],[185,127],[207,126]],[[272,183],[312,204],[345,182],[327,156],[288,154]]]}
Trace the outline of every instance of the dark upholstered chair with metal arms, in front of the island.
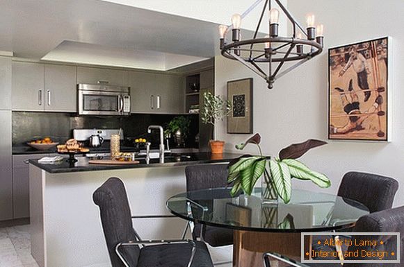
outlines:
{"label": "dark upholstered chair with metal arms, in front of the island", "polygon": [[[113,267],[213,267],[200,241],[142,241],[132,225],[127,192],[118,178],[109,178],[92,196]],[[159,243],[159,245],[155,245]],[[152,244],[140,248],[138,244]]]}

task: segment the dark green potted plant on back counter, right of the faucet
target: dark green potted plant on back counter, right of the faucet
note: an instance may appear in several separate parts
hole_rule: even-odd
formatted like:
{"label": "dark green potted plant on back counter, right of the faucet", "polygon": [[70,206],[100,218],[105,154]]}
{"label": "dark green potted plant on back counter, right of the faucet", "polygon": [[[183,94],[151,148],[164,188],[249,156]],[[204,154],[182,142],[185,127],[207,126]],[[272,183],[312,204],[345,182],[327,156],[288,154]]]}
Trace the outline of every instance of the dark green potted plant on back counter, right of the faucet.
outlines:
{"label": "dark green potted plant on back counter, right of the faucet", "polygon": [[170,138],[174,135],[174,141],[177,146],[185,146],[185,139],[189,133],[189,126],[191,119],[185,116],[178,116],[173,118],[165,127],[165,137]]}

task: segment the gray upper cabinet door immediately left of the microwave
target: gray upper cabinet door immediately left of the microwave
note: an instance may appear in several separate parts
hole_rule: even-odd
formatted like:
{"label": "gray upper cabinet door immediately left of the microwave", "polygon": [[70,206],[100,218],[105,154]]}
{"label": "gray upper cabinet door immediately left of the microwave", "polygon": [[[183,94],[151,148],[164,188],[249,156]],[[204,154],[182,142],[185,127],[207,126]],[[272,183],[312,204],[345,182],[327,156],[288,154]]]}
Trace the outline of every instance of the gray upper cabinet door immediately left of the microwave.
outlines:
{"label": "gray upper cabinet door immediately left of the microwave", "polygon": [[76,67],[45,65],[45,110],[76,112]]}

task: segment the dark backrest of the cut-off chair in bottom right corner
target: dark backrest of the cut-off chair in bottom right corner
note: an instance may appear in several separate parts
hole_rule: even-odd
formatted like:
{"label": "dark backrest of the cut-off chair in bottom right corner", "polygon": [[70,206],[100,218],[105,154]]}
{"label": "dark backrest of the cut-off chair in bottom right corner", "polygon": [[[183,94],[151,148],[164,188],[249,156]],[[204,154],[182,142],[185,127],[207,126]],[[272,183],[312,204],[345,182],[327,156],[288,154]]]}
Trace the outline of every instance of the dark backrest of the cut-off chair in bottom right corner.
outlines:
{"label": "dark backrest of the cut-off chair in bottom right corner", "polygon": [[[401,262],[404,261],[404,206],[403,207],[396,207],[394,209],[385,209],[381,212],[374,212],[372,214],[368,214],[365,216],[362,216],[359,218],[357,221],[355,228],[353,232],[399,232],[401,236],[400,240],[400,252],[401,253]],[[359,243],[359,240],[362,239],[364,240],[363,237],[361,236],[353,236],[353,242],[357,240],[357,243]],[[353,251],[355,252],[356,250],[366,250],[369,252],[388,252],[389,258],[385,259],[394,259],[394,257],[391,256],[390,252],[394,251],[396,248],[396,236],[371,236],[372,240],[377,241],[378,246],[361,246],[360,248],[358,246],[350,246],[348,248],[348,252]],[[366,240],[369,240],[369,237],[366,238]],[[380,241],[383,241],[384,243],[381,245]],[[346,258],[346,259],[378,259],[378,257],[373,257],[373,258],[361,258],[361,254],[359,252],[359,257],[354,257],[354,258]],[[376,266],[388,266],[388,267],[399,267],[402,266],[402,264],[375,264],[375,263],[369,263],[369,264],[357,264],[357,263],[352,263],[352,264],[344,264],[346,267],[376,267]]]}

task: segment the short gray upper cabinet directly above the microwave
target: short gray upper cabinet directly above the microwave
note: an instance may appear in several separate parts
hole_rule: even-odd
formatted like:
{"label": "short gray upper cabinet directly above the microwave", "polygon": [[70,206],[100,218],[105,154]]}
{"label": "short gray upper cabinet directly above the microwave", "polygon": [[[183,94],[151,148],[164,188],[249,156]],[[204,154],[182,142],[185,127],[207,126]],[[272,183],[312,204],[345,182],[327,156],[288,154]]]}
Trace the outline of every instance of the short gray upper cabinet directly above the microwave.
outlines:
{"label": "short gray upper cabinet directly above the microwave", "polygon": [[128,86],[127,71],[93,67],[77,67],[77,83],[108,83],[108,85]]}

